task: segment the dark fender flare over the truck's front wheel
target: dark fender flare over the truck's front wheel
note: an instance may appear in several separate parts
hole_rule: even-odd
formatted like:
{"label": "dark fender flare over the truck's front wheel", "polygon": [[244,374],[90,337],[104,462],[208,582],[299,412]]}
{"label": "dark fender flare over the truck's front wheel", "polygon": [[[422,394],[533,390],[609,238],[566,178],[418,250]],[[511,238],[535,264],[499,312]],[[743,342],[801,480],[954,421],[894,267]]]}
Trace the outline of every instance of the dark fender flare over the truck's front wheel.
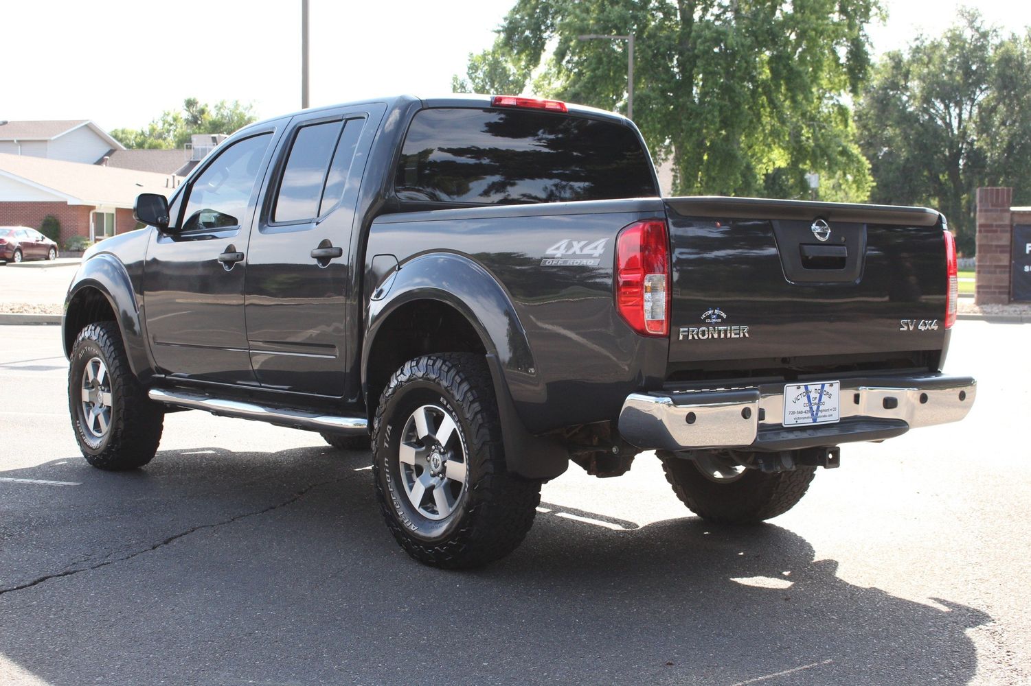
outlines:
{"label": "dark fender flare over the truck's front wheel", "polygon": [[70,315],[73,314],[73,310],[80,300],[79,296],[90,288],[100,291],[114,312],[115,321],[122,332],[126,355],[129,357],[129,367],[133,374],[139,379],[152,375],[153,366],[140,313],[141,303],[137,300],[132,279],[129,277],[125,265],[118,258],[106,252],[84,262],[68,288],[64,303],[64,315],[61,318],[61,338],[64,342],[65,356],[71,355],[71,345],[78,334],[78,332],[68,331]]}

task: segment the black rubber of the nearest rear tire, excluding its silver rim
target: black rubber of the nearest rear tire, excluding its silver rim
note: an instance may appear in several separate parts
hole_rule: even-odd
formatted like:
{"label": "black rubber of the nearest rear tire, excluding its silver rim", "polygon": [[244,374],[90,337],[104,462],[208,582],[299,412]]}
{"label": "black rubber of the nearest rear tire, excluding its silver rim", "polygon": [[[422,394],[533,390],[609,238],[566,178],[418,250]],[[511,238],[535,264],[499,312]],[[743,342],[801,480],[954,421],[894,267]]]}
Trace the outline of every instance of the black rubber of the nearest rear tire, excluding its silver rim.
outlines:
{"label": "black rubber of the nearest rear tire, excluding its silver rim", "polygon": [[[444,406],[466,450],[466,486],[443,520],[422,516],[401,487],[399,445],[412,408]],[[372,430],[372,473],[387,526],[420,562],[444,569],[481,567],[514,550],[540,503],[540,481],[505,469],[501,423],[483,356],[437,353],[406,362],[379,399]]]}

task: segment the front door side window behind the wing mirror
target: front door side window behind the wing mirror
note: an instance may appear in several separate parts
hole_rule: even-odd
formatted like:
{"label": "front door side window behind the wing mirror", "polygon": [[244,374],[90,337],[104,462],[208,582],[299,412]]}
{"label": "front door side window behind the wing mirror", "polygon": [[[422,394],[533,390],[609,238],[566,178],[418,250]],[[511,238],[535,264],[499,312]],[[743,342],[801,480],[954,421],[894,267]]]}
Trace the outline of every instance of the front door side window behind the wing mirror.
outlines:
{"label": "front door side window behind the wing mirror", "polygon": [[240,226],[271,140],[271,133],[244,138],[219,153],[189,188],[182,231]]}

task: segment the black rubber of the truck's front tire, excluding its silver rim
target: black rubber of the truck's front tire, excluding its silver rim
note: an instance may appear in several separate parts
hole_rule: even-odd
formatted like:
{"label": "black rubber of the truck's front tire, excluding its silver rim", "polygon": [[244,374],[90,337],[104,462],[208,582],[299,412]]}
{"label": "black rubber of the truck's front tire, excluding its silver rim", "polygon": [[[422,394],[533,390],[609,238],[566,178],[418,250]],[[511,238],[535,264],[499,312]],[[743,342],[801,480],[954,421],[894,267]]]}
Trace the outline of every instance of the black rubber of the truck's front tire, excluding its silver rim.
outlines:
{"label": "black rubber of the truck's front tire, excluding its silver rim", "polygon": [[[110,422],[100,438],[84,425],[80,407],[82,376],[94,357],[100,357],[110,378]],[[68,367],[68,410],[82,456],[97,469],[136,469],[151,461],[158,451],[164,409],[146,397],[133,376],[122,335],[113,321],[89,324],[75,338]]]}

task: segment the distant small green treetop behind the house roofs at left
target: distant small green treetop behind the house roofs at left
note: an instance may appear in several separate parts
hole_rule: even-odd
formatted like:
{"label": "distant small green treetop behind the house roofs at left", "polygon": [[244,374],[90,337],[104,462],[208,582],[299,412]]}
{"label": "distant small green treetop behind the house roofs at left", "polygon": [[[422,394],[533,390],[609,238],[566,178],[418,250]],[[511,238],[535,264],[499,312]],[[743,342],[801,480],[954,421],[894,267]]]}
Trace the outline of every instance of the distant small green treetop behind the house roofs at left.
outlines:
{"label": "distant small green treetop behind the house roofs at left", "polygon": [[237,100],[207,105],[187,98],[181,110],[165,110],[142,129],[114,129],[110,134],[128,148],[182,147],[194,134],[229,134],[257,118],[253,105]]}

